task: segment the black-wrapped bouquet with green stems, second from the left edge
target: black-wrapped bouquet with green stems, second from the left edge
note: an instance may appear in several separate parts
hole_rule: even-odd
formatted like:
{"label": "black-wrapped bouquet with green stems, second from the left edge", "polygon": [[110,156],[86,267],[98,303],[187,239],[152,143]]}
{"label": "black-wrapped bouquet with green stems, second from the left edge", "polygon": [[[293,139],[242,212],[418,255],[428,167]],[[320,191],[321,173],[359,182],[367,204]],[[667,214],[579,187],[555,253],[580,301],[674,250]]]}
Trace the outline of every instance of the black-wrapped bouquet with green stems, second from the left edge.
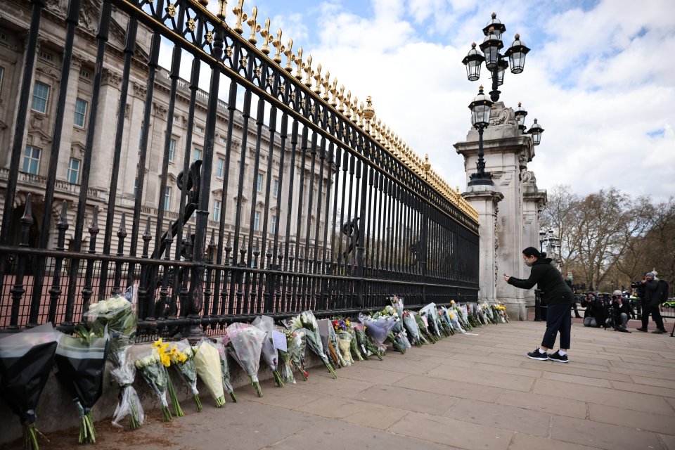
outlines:
{"label": "black-wrapped bouquet with green stems, second from the left edge", "polygon": [[56,377],[79,411],[80,444],[96,442],[91,409],[103,394],[103,369],[109,343],[108,335],[98,338],[95,333],[79,327],[76,338],[63,335],[56,347]]}

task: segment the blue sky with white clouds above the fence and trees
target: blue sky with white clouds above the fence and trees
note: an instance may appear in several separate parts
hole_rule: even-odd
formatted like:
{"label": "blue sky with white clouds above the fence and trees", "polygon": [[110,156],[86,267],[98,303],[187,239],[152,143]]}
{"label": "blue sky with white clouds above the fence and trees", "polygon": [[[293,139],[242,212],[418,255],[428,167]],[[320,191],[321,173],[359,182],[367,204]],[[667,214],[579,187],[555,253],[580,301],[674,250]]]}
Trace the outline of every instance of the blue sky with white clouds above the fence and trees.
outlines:
{"label": "blue sky with white clouds above the fence and trees", "polygon": [[675,195],[672,0],[256,0],[245,11],[254,5],[352,98],[372,96],[378,117],[461,191],[452,144],[466,138],[478,86],[491,84],[485,73],[469,82],[461,60],[494,11],[505,47],[518,32],[532,49],[500,100],[522,102],[527,126],[536,117],[546,130],[528,165],[539,188]]}

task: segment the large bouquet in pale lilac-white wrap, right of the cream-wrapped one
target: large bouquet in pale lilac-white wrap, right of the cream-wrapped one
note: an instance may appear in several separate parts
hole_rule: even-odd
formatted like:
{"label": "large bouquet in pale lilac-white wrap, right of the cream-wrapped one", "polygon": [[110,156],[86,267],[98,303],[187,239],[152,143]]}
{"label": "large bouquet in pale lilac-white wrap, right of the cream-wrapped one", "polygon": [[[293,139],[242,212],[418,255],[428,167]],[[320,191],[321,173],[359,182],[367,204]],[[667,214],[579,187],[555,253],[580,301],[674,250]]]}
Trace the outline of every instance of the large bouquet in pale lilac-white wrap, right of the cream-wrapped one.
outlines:
{"label": "large bouquet in pale lilac-white wrap, right of the cream-wrapped one", "polygon": [[255,387],[258,397],[262,397],[260,383],[258,381],[258,368],[260,367],[260,352],[266,339],[266,333],[248,323],[231,323],[227,327],[227,334],[224,340],[230,354],[237,361],[237,364],[244,369],[245,373],[251,379],[251,384]]}

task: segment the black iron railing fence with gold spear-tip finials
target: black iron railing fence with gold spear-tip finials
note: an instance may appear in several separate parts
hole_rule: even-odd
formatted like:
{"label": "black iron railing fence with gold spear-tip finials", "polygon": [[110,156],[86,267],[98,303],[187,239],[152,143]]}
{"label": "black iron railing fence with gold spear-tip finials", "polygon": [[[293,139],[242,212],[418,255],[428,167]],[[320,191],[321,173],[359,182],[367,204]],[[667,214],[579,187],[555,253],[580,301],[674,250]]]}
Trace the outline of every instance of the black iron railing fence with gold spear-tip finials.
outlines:
{"label": "black iron railing fence with gold spear-tip finials", "polygon": [[256,8],[60,3],[0,6],[31,18],[4,34],[25,49],[0,129],[0,331],[72,329],[133,283],[146,334],[477,300],[475,211]]}

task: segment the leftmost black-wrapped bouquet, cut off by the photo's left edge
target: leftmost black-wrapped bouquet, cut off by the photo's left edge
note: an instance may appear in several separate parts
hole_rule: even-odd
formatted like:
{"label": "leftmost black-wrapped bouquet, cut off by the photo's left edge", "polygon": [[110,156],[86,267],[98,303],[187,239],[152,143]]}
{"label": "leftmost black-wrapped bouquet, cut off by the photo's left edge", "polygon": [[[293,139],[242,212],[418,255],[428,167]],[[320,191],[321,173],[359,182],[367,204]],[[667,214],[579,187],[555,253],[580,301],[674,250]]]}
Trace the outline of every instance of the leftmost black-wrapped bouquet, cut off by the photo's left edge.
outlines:
{"label": "leftmost black-wrapped bouquet, cut off by the photo's left edge", "polygon": [[61,333],[51,323],[0,338],[0,390],[23,425],[23,446],[38,449],[35,409]]}

